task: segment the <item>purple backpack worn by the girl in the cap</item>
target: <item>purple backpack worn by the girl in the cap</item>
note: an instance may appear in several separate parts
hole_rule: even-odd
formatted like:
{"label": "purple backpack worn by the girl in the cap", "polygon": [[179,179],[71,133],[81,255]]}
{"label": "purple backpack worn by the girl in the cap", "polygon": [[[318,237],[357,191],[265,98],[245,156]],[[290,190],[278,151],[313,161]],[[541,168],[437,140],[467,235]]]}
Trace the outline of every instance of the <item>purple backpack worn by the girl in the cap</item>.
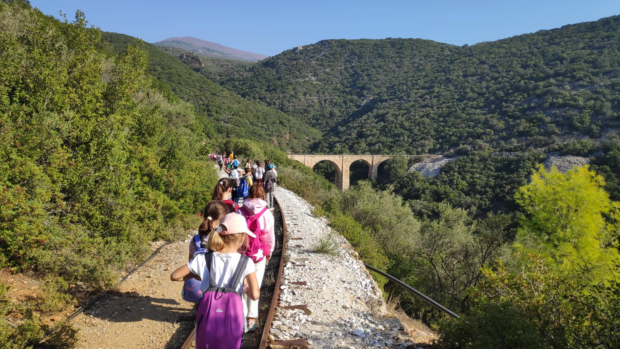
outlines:
{"label": "purple backpack worn by the girl in the cap", "polygon": [[[205,253],[206,268],[211,270],[213,252]],[[241,347],[246,317],[237,286],[243,282],[247,256],[241,256],[228,287],[216,287],[209,278],[196,310],[196,349],[231,349]]]}

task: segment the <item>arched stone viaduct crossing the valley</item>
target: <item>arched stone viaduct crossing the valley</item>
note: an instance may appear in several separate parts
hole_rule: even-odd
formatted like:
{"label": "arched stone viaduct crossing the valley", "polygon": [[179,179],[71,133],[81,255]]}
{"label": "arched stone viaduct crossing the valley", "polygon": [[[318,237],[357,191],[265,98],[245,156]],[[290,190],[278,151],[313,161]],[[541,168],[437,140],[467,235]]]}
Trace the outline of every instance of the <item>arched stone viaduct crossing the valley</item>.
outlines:
{"label": "arched stone viaduct crossing the valley", "polygon": [[[368,165],[368,179],[377,177],[379,164],[393,155],[368,155],[368,154],[288,154],[288,157],[312,167],[320,161],[329,161],[336,169],[336,186],[340,190],[349,188],[349,167],[352,163],[362,160]],[[424,156],[426,158],[434,158],[441,155],[405,155],[406,157]]]}

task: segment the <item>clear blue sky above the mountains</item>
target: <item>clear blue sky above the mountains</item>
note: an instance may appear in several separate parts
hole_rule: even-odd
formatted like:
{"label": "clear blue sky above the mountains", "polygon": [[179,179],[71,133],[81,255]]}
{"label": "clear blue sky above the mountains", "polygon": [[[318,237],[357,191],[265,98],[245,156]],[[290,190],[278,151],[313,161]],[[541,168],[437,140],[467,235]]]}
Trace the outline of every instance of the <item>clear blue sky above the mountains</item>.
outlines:
{"label": "clear blue sky above the mountains", "polygon": [[192,36],[277,55],[324,39],[420,38],[472,45],[620,14],[619,0],[31,0],[43,13],[156,42]]}

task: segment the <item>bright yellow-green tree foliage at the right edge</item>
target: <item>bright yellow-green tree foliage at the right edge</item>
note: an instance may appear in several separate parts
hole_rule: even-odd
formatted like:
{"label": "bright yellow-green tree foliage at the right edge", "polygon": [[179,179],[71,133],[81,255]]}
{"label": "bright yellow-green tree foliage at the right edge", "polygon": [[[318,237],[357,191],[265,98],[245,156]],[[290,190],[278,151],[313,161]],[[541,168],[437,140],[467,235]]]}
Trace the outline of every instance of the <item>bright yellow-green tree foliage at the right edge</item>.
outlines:
{"label": "bright yellow-green tree foliage at the right edge", "polygon": [[531,183],[516,194],[526,212],[515,248],[541,253],[567,273],[588,270],[595,279],[608,278],[618,250],[604,215],[616,207],[603,189],[603,178],[588,166],[563,174],[539,168]]}

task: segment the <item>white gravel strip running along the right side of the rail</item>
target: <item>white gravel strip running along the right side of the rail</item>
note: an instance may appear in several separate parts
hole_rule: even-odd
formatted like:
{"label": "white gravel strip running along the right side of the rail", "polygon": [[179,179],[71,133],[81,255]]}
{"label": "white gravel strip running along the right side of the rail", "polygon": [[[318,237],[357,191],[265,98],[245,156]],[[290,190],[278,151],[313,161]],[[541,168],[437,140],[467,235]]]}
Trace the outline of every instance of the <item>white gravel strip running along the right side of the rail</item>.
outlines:
{"label": "white gravel strip running along the right side of the rail", "polygon": [[[315,217],[307,202],[286,189],[278,187],[275,194],[288,242],[270,340],[307,338],[314,348],[423,348],[436,338],[420,322],[389,311],[357,253],[324,217]],[[314,252],[312,246],[327,235],[335,253]]]}

